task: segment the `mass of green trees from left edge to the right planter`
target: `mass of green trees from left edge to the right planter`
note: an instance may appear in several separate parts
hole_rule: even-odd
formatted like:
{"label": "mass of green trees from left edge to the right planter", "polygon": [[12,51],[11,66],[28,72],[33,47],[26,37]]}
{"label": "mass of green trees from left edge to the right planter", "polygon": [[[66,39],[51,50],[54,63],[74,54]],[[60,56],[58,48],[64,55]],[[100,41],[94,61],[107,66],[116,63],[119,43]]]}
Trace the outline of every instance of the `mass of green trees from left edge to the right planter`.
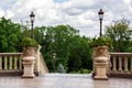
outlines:
{"label": "mass of green trees from left edge to the right planter", "polygon": [[[34,40],[28,28],[11,20],[0,19],[0,52],[22,52],[22,46],[42,46],[42,54],[50,72],[57,70],[59,63],[67,72],[80,68],[91,69],[90,38],[80,36],[79,31],[69,25],[40,26],[34,29]],[[53,53],[56,53],[53,59]]]}

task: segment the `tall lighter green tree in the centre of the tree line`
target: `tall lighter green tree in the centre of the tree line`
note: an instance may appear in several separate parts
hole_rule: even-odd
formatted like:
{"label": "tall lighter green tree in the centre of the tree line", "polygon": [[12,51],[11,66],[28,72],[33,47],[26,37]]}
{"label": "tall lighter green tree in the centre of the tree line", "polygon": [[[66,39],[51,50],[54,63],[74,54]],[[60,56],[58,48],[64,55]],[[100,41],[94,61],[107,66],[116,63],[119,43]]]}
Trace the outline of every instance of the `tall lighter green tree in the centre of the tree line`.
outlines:
{"label": "tall lighter green tree in the centre of the tree line", "polygon": [[78,35],[78,31],[69,25],[57,25],[53,32],[53,48],[57,56],[57,65],[62,63],[67,69],[72,37]]}

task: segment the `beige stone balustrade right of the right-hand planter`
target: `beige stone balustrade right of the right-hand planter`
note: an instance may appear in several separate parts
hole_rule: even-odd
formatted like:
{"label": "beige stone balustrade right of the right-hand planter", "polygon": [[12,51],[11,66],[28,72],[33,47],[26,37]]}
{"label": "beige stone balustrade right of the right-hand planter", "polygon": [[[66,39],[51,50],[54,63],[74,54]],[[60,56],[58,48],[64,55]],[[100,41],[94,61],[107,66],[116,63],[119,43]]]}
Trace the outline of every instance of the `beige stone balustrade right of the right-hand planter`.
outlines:
{"label": "beige stone balustrade right of the right-hand planter", "polygon": [[132,75],[132,53],[110,53],[109,73]]}

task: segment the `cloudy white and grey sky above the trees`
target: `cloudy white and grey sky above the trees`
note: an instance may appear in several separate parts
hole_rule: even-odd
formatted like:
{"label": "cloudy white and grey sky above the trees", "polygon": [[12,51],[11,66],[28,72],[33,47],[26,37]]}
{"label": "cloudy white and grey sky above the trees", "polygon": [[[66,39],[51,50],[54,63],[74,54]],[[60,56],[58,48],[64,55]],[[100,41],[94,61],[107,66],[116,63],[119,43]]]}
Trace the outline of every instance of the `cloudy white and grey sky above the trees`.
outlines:
{"label": "cloudy white and grey sky above the trees", "polygon": [[69,24],[86,36],[99,35],[99,9],[105,11],[103,31],[122,18],[132,23],[132,0],[0,0],[0,16],[25,23],[33,11],[35,25]]}

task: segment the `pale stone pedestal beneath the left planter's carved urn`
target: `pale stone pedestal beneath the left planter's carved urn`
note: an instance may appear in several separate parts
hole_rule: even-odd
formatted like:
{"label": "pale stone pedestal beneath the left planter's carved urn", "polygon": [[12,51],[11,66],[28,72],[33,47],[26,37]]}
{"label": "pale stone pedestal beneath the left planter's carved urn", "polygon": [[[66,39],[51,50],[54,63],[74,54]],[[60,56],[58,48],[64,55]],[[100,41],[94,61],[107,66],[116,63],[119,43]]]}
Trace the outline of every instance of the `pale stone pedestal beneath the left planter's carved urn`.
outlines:
{"label": "pale stone pedestal beneath the left planter's carved urn", "polygon": [[24,66],[24,70],[23,70],[23,75],[22,77],[24,78],[33,78],[35,77],[34,75],[34,56],[26,56],[23,57],[23,66]]}

